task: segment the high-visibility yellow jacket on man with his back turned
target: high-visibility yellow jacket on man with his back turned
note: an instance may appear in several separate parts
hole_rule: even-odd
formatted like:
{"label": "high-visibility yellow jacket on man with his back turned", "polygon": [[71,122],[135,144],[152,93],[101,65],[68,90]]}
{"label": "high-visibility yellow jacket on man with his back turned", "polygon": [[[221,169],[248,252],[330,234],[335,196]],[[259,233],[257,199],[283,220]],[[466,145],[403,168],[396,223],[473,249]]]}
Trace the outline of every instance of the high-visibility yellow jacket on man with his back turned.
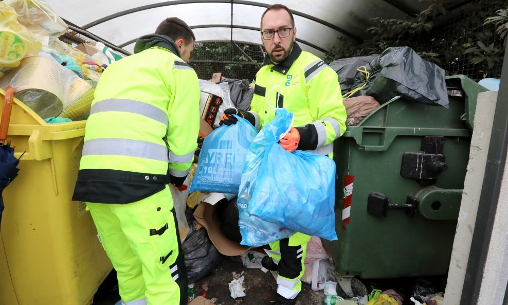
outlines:
{"label": "high-visibility yellow jacket on man with his back turned", "polygon": [[185,180],[197,147],[199,83],[162,35],[108,66],[86,122],[73,200],[131,203]]}

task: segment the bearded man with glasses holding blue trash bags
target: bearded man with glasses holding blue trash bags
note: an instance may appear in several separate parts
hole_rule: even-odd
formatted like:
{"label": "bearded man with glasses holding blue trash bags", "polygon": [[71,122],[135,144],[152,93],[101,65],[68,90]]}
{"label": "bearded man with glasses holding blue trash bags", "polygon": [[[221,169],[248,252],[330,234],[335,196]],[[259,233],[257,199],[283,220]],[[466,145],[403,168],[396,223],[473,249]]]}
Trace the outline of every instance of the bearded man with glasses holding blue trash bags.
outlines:
{"label": "bearded man with glasses holding blue trash bags", "polygon": [[[268,7],[261,17],[266,57],[254,81],[251,111],[227,109],[222,122],[234,124],[237,119],[232,114],[239,114],[260,129],[275,118],[275,110],[266,104],[265,95],[280,86],[277,94],[268,97],[268,103],[295,115],[295,127],[280,140],[280,145],[289,152],[299,149],[333,157],[333,141],[346,130],[346,109],[337,74],[318,57],[302,51],[295,40],[291,10],[280,4]],[[298,232],[265,249],[269,256],[263,258],[263,266],[279,272],[274,305],[295,303],[309,240],[310,236]]]}

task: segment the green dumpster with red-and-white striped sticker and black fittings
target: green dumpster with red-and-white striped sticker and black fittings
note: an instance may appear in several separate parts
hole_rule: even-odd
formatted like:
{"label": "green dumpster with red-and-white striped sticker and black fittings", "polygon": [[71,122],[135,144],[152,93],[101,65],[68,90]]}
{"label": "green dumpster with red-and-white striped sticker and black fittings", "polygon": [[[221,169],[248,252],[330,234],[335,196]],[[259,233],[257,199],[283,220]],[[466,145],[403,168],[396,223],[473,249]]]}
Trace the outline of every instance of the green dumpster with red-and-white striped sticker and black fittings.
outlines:
{"label": "green dumpster with red-and-white striped sticker and black fittings", "polygon": [[323,241],[341,276],[448,271],[478,93],[446,78],[449,109],[395,97],[335,142],[336,231]]}

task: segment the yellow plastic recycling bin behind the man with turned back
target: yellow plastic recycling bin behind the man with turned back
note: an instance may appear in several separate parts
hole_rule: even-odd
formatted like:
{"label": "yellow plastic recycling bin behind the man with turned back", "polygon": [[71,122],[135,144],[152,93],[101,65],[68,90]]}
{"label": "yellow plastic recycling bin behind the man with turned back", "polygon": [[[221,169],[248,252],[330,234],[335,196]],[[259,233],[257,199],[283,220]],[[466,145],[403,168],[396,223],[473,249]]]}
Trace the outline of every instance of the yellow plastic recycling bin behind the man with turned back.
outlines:
{"label": "yellow plastic recycling bin behind the man with turned back", "polygon": [[21,159],[3,192],[0,305],[88,305],[112,270],[85,204],[71,200],[85,123],[47,124],[14,99],[7,139]]}

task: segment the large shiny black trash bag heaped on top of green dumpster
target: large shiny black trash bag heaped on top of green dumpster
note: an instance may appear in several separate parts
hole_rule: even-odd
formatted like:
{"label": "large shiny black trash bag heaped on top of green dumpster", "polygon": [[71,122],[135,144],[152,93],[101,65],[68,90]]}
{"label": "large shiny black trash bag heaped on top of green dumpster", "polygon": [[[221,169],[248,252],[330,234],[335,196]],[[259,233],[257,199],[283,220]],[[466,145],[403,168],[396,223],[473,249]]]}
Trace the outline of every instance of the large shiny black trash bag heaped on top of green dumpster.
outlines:
{"label": "large shiny black trash bag heaped on top of green dumpster", "polygon": [[[369,95],[383,104],[401,95],[448,108],[445,71],[422,59],[410,47],[388,48],[366,67],[370,73],[368,84],[353,96]],[[357,73],[351,90],[365,82],[366,74]]]}

